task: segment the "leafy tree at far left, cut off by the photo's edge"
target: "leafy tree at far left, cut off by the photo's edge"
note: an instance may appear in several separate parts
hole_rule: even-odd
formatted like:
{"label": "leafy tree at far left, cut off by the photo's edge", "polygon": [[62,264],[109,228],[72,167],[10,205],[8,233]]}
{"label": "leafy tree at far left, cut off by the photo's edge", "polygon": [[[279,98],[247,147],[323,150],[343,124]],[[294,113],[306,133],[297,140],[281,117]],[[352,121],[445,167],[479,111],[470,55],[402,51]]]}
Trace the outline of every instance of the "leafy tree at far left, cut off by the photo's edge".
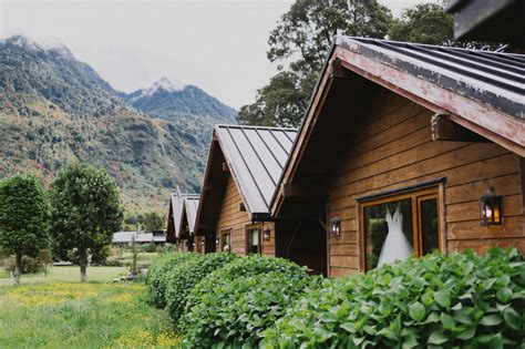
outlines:
{"label": "leafy tree at far left, cut off by the photo's edge", "polygon": [[22,256],[37,256],[48,246],[49,216],[48,198],[34,176],[0,182],[0,247],[14,255],[14,284],[20,284]]}

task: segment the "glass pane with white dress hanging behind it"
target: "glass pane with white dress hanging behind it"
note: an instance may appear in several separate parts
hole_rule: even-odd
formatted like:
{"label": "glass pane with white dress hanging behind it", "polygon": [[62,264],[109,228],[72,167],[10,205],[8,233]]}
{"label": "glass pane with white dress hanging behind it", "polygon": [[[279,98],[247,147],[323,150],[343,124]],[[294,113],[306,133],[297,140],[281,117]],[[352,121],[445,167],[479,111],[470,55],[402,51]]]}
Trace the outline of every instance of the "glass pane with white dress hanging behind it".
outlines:
{"label": "glass pane with white dress hanging behind it", "polygon": [[364,207],[367,269],[413,255],[412,199]]}

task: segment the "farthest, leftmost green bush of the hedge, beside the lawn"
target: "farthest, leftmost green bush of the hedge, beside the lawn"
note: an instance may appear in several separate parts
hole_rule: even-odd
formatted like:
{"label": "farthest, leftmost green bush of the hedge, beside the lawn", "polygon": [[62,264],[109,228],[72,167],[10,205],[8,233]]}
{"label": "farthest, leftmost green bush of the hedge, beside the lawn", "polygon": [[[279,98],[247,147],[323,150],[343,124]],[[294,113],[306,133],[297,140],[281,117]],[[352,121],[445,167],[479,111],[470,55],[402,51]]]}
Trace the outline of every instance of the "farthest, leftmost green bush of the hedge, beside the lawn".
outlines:
{"label": "farthest, leftmost green bush of the hedge, beside the lawn", "polygon": [[147,269],[146,286],[150,290],[152,302],[156,307],[164,308],[166,306],[165,292],[168,271],[185,260],[197,257],[196,254],[192,253],[169,253],[158,256],[152,264]]}

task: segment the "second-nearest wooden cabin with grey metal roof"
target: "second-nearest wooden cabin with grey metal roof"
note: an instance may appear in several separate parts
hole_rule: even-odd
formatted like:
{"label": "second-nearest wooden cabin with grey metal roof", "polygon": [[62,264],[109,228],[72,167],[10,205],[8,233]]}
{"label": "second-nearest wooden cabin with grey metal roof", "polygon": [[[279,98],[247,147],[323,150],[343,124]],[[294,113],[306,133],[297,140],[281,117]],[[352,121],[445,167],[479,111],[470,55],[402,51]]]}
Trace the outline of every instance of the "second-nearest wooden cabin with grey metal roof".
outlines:
{"label": "second-nearest wooden cabin with grey metal roof", "polygon": [[[296,134],[297,130],[278,127],[215,127],[196,223],[197,236],[204,235],[209,242],[206,252],[306,260],[301,254],[309,246],[298,249],[297,255],[289,254],[294,230],[278,235],[287,240],[276,239],[276,229],[282,225],[275,224],[269,216],[270,199]],[[315,239],[310,242],[315,244]],[[326,240],[318,245],[326,248]],[[323,271],[315,264],[305,265]]]}

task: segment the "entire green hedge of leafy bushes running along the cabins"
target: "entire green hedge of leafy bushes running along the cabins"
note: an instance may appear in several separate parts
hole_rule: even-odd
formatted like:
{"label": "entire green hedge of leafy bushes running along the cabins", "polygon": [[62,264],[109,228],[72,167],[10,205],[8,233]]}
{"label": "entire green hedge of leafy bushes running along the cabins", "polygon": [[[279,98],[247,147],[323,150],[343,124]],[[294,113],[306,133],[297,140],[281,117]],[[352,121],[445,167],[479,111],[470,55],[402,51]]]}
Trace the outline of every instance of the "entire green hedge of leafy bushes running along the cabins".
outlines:
{"label": "entire green hedge of leafy bushes running along the cabins", "polygon": [[155,266],[161,283],[148,275],[167,285],[184,347],[525,349],[525,261],[514,248],[433,254],[339,279],[280,258],[193,256],[167,276]]}

